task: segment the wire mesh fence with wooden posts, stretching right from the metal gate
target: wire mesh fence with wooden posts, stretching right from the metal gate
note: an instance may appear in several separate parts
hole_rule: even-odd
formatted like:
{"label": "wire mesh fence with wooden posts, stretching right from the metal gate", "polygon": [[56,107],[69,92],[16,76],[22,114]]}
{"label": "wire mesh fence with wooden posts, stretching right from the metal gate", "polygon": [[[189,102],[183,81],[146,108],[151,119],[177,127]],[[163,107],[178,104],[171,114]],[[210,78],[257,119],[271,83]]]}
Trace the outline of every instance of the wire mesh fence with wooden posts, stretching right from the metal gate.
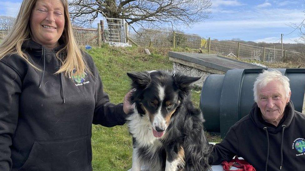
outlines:
{"label": "wire mesh fence with wooden posts, stretching right from the metal gate", "polygon": [[280,61],[285,58],[293,58],[301,55],[298,52],[264,48],[232,41],[218,41],[211,40],[210,38],[205,40],[197,35],[175,31],[140,28],[137,32],[130,33],[129,36],[138,45],[144,47],[202,48],[207,50],[208,53],[267,62]]}

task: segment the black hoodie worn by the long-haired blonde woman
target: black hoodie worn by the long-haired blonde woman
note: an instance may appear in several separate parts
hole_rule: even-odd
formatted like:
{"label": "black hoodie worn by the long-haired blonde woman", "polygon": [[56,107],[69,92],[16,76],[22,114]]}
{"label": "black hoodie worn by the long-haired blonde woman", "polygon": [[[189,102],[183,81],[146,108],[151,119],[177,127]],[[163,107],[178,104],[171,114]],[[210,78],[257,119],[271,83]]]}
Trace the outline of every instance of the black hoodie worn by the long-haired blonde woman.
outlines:
{"label": "black hoodie worn by the long-haired blonde woman", "polygon": [[[22,45],[34,69],[18,55],[0,60],[0,170],[92,170],[92,123],[125,123],[123,104],[109,103],[91,58],[92,74],[67,78],[56,52],[32,40]],[[60,58],[64,58],[64,54]]]}

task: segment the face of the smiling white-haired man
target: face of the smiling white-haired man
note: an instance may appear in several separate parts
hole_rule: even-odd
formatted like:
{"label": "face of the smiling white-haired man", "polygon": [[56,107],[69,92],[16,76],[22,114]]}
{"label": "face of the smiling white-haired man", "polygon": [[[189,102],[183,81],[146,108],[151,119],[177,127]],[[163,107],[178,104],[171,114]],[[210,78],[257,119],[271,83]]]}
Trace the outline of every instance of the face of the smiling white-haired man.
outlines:
{"label": "face of the smiling white-haired man", "polygon": [[[286,104],[290,100],[286,97],[285,89],[277,81],[269,82],[265,87],[258,89],[257,106],[261,109],[262,117],[269,123],[280,121],[284,113]],[[277,122],[277,123],[278,123]]]}

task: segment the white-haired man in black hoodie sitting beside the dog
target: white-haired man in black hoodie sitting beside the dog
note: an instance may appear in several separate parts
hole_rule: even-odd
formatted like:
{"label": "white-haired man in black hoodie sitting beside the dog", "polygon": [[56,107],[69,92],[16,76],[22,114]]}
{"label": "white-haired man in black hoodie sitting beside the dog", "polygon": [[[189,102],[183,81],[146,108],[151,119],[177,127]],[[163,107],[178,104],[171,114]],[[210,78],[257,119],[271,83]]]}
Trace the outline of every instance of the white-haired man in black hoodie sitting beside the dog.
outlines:
{"label": "white-haired man in black hoodie sitting beside the dog", "polygon": [[258,171],[305,169],[305,115],[290,101],[289,79],[279,71],[257,77],[254,105],[213,148],[210,164],[244,158]]}

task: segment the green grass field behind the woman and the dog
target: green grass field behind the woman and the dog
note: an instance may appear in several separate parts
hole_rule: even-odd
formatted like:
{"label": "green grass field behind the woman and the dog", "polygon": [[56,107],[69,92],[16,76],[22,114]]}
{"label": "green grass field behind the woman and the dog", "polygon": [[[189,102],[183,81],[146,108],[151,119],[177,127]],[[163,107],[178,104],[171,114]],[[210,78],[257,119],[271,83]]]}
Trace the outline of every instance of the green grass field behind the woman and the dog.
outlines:
{"label": "green grass field behind the woman and the dog", "polygon": [[[103,46],[87,51],[92,55],[111,102],[123,102],[124,95],[130,89],[127,72],[145,70],[171,70],[173,65],[165,56],[166,50],[151,50],[152,55],[144,54],[143,48],[112,48]],[[163,54],[163,55],[161,55]],[[200,91],[192,90],[192,101],[199,107]],[[219,141],[217,136],[208,136]],[[92,130],[93,170],[125,171],[132,164],[132,137],[128,128],[115,126],[106,128],[93,125]]]}

